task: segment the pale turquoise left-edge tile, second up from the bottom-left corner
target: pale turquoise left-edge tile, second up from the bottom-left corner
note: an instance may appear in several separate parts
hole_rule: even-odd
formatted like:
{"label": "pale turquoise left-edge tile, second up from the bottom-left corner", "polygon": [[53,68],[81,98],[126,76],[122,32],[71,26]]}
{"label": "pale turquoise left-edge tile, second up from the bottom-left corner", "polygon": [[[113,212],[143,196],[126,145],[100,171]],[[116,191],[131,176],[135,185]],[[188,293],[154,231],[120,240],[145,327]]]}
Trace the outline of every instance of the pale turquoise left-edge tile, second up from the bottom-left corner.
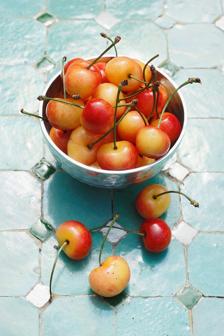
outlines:
{"label": "pale turquoise left-edge tile, second up from the bottom-left corner", "polygon": [[39,249],[25,232],[0,232],[0,296],[25,295],[38,282]]}

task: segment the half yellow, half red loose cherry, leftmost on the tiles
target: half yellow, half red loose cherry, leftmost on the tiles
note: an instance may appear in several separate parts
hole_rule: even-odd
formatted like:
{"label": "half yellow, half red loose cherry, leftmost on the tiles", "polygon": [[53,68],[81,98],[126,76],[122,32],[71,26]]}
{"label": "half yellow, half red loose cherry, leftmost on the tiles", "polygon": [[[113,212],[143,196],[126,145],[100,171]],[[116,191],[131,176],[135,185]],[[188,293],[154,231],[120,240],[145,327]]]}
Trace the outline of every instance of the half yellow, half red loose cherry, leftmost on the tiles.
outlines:
{"label": "half yellow, half red loose cherry, leftmost on the tiles", "polygon": [[68,220],[59,225],[56,238],[60,246],[68,241],[63,251],[71,259],[83,259],[91,250],[92,236],[87,227],[76,220]]}

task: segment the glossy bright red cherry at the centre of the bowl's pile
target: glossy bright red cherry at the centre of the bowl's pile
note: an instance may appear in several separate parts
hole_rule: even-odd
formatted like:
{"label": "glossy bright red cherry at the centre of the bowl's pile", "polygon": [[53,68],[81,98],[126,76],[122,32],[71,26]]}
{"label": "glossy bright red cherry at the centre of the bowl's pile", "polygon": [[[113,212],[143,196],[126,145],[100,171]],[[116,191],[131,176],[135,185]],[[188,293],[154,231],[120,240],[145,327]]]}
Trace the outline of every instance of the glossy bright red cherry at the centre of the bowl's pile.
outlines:
{"label": "glossy bright red cherry at the centre of the bowl's pile", "polygon": [[114,121],[112,105],[101,98],[92,98],[85,104],[81,125],[91,133],[103,134],[109,131]]}

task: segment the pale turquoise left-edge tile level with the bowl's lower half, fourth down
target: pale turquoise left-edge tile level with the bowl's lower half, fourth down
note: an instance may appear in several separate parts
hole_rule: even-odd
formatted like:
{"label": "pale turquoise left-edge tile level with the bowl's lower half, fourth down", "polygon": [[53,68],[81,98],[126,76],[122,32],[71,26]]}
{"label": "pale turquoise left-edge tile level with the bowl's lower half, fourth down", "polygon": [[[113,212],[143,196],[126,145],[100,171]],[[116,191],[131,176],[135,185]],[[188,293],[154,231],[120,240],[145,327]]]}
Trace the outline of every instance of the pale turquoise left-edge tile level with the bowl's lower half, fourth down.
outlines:
{"label": "pale turquoise left-edge tile level with the bowl's lower half, fourth down", "polygon": [[0,144],[0,169],[29,170],[42,159],[43,145],[39,122],[27,116],[2,117],[0,131],[4,138],[4,143]]}

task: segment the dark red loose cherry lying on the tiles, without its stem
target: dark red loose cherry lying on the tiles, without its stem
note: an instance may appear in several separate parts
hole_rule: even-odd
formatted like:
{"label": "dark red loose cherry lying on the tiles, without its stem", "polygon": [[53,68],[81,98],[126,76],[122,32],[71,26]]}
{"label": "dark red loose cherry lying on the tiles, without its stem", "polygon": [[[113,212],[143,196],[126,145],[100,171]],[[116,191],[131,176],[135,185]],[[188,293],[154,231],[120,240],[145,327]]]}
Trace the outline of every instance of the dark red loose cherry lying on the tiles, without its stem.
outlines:
{"label": "dark red loose cherry lying on the tiles, without its stem", "polygon": [[142,236],[145,248],[150,252],[161,252],[165,250],[171,242],[171,229],[160,218],[150,218],[144,220],[139,231],[145,233]]}

